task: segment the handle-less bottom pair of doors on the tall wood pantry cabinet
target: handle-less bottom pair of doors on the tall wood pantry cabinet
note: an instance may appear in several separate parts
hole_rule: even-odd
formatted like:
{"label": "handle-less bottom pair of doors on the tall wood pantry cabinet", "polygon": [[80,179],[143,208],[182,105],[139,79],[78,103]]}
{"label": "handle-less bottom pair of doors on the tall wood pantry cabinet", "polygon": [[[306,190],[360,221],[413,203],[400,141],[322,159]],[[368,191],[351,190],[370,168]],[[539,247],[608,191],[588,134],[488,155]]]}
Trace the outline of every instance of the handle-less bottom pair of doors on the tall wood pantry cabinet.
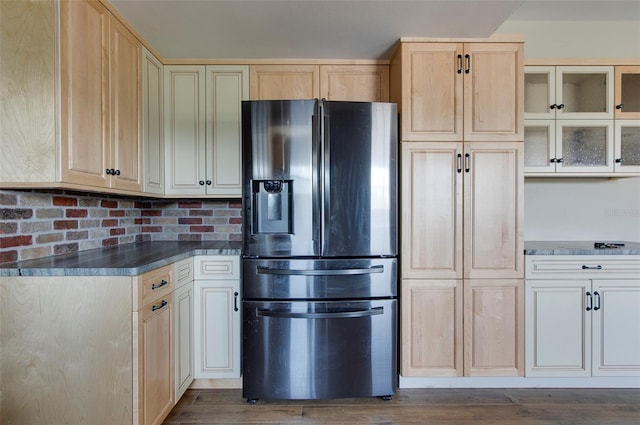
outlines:
{"label": "handle-less bottom pair of doors on the tall wood pantry cabinet", "polygon": [[402,376],[524,375],[524,280],[401,285]]}

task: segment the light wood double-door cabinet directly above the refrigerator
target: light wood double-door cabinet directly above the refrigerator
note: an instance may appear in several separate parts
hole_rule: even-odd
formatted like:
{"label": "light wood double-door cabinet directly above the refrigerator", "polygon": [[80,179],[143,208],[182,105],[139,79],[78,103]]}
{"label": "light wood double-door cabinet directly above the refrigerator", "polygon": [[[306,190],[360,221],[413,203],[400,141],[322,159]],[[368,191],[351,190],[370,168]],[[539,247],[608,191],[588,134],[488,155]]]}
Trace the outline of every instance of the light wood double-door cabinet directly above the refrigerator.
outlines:
{"label": "light wood double-door cabinet directly above the refrigerator", "polygon": [[387,65],[251,65],[251,99],[389,101]]}

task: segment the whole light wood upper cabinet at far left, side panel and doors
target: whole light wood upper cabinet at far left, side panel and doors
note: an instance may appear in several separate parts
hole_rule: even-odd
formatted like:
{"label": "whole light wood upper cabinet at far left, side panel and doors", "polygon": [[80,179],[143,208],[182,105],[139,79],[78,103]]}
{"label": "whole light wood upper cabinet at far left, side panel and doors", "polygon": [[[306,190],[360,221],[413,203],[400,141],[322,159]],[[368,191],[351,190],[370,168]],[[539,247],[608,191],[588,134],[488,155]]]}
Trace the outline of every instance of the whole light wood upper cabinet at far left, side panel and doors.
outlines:
{"label": "whole light wood upper cabinet at far left, side panel and doors", "polygon": [[0,186],[140,192],[140,42],[96,0],[0,4]]}

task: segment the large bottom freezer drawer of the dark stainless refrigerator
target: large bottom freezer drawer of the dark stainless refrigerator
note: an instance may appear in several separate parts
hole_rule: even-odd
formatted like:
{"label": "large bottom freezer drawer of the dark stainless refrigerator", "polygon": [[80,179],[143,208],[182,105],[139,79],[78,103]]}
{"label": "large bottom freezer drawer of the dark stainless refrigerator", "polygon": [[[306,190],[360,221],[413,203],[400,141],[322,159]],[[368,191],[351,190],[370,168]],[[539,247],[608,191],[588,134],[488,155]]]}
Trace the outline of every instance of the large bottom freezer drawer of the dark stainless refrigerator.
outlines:
{"label": "large bottom freezer drawer of the dark stainless refrigerator", "polygon": [[245,301],[243,315],[247,399],[395,394],[396,300]]}

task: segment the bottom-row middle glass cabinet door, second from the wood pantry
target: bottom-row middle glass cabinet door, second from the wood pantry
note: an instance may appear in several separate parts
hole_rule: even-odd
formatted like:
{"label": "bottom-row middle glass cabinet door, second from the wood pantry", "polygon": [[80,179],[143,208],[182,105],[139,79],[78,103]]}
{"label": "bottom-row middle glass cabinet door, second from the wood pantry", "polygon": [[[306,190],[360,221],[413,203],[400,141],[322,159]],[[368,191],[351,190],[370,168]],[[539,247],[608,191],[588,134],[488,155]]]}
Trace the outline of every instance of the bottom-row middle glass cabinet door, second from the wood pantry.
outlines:
{"label": "bottom-row middle glass cabinet door, second from the wood pantry", "polygon": [[556,171],[613,172],[613,120],[556,121]]}

